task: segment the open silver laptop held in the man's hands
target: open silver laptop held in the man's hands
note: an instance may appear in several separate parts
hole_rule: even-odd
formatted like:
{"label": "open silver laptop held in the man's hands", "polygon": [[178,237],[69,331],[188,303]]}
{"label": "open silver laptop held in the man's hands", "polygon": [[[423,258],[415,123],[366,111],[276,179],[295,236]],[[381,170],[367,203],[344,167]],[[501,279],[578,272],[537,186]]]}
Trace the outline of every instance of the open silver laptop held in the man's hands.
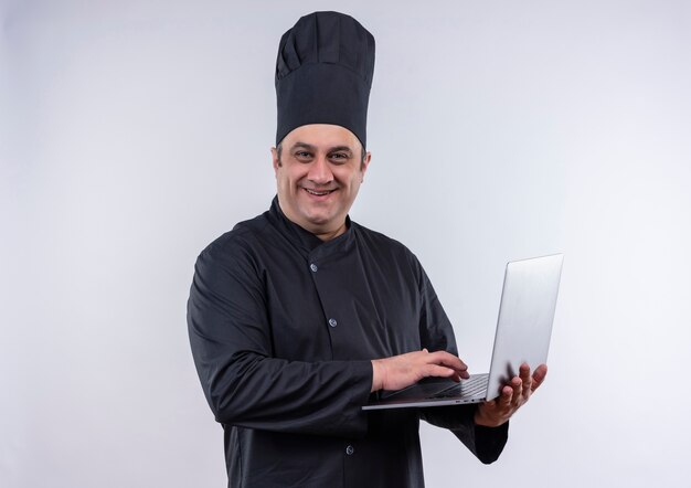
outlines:
{"label": "open silver laptop held in the man's hands", "polygon": [[398,391],[383,391],[362,410],[442,406],[496,399],[527,362],[531,371],[545,363],[552,336],[563,254],[507,264],[489,373],[456,383],[428,378]]}

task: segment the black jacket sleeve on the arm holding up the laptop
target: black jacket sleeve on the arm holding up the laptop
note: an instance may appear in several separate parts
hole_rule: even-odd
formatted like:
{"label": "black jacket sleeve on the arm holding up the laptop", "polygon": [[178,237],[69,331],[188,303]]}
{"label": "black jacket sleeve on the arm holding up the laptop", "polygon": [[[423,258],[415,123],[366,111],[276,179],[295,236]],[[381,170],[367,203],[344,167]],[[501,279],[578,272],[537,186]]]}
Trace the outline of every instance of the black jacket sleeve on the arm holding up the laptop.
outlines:
{"label": "black jacket sleeve on the arm holding up the laptop", "polygon": [[[415,259],[417,263],[417,259]],[[422,295],[419,333],[423,347],[429,351],[446,350],[458,356],[454,328],[439,303],[437,294],[419,263],[418,284]],[[475,456],[485,464],[499,458],[509,437],[509,424],[483,427],[475,424],[477,405],[454,405],[419,409],[427,423],[448,428]]]}

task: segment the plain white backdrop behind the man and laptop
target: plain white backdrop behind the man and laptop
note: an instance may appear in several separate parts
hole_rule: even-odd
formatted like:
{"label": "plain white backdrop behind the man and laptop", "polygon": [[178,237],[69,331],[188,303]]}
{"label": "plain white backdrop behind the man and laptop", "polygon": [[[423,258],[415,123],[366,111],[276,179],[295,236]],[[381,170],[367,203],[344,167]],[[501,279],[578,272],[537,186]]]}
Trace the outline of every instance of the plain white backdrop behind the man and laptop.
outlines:
{"label": "plain white backdrop behind the man and laptop", "polygon": [[565,253],[546,383],[495,465],[424,425],[427,486],[688,486],[689,6],[0,0],[0,486],[225,486],[193,263],[268,208],[278,40],[331,9],[378,42],[351,216],[472,370],[506,262]]}

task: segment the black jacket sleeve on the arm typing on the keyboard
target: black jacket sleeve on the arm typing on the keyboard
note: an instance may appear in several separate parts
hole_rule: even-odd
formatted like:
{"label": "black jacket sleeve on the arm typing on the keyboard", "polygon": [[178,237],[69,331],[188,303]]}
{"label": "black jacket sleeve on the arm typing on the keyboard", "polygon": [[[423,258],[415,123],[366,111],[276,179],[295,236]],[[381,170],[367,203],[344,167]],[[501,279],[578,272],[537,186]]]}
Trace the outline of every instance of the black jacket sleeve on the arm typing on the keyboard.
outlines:
{"label": "black jacket sleeve on the arm typing on the keyboard", "polygon": [[370,361],[272,357],[261,273],[242,245],[199,256],[188,301],[192,354],[217,422],[265,431],[361,436]]}

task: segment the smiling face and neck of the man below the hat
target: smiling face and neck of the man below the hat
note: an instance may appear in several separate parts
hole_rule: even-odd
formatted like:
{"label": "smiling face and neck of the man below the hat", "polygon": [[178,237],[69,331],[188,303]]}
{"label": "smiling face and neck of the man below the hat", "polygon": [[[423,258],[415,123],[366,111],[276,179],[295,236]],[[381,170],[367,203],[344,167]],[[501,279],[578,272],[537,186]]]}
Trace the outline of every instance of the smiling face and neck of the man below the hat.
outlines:
{"label": "smiling face and neck of the man below the hat", "polygon": [[360,140],[343,127],[312,124],[289,132],[272,155],[284,214],[325,241],[342,234],[370,163]]}

